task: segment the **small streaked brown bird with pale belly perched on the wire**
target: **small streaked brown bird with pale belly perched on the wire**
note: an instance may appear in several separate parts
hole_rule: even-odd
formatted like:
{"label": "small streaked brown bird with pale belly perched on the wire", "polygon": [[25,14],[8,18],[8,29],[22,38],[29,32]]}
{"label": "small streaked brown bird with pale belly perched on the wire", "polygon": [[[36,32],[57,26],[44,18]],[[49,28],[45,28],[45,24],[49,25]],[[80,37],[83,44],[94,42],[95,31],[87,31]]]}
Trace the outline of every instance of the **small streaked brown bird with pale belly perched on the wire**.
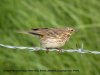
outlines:
{"label": "small streaked brown bird with pale belly perched on the wire", "polygon": [[74,28],[33,28],[25,33],[36,35],[40,39],[40,44],[43,48],[46,48],[46,52],[49,49],[58,49],[61,52],[61,47],[68,42],[70,36],[75,32]]}

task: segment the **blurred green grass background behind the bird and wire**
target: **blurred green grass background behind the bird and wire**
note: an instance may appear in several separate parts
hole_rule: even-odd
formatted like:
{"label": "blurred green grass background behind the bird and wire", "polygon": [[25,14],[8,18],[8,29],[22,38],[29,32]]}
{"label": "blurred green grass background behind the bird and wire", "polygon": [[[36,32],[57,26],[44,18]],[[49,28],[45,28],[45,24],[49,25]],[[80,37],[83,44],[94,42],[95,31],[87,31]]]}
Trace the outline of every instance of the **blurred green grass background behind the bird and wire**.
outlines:
{"label": "blurred green grass background behind the bird and wire", "polygon": [[[18,34],[31,28],[75,27],[78,31],[64,49],[100,50],[100,0],[0,0],[0,43],[40,46],[34,36]],[[44,51],[29,52],[0,47],[0,75],[99,75],[100,55]],[[2,70],[70,70],[79,72],[3,72]]]}

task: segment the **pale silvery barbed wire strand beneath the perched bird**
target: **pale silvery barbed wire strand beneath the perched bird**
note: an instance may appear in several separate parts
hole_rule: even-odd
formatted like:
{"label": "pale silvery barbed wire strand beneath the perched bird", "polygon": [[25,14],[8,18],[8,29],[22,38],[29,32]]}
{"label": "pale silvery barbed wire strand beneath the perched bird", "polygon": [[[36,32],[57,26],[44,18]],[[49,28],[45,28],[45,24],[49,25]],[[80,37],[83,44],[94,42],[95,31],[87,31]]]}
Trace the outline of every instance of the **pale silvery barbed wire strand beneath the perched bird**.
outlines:
{"label": "pale silvery barbed wire strand beneath the perched bird", "polygon": [[[0,44],[1,47],[10,48],[10,49],[20,49],[20,50],[29,50],[29,51],[39,51],[39,50],[46,50],[45,48],[40,47],[24,47],[24,46],[10,46],[10,45],[4,45]],[[57,49],[50,49],[50,51],[58,51]],[[62,49],[62,52],[77,52],[77,53],[91,53],[91,54],[100,54],[99,51],[90,51],[90,50],[83,50],[83,44],[82,48],[76,49],[76,50],[64,50]]]}

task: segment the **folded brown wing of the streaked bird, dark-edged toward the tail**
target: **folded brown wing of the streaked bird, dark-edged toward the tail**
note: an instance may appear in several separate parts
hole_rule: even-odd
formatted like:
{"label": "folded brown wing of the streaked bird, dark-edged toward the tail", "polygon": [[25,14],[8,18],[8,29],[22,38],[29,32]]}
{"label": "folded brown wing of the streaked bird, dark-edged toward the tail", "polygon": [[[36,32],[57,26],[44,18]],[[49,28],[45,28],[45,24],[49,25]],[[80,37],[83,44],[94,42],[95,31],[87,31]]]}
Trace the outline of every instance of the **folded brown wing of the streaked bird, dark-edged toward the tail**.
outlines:
{"label": "folded brown wing of the streaked bird, dark-edged toward the tail", "polygon": [[39,35],[39,36],[48,36],[48,37],[58,37],[62,34],[63,30],[62,29],[57,29],[57,28],[37,28],[37,29],[32,29],[29,31],[30,34],[33,35]]}

